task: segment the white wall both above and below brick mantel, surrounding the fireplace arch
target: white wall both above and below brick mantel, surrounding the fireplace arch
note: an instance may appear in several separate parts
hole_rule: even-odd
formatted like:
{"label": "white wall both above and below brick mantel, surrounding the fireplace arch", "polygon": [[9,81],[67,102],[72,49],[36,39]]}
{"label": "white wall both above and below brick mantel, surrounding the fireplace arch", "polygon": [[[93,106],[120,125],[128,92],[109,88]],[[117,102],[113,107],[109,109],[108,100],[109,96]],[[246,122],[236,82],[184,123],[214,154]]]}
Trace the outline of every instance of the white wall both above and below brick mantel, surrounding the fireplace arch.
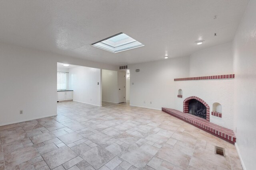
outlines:
{"label": "white wall both above and below brick mantel, surrounding the fireplace arch", "polygon": [[[233,74],[232,43],[197,51],[190,55],[189,60],[189,77]],[[183,96],[176,98],[174,109],[183,111],[183,100],[197,96],[210,106],[210,122],[228,129],[234,128],[234,79],[177,81],[176,95],[179,89],[182,89]],[[211,115],[215,102],[222,105],[222,117]]]}

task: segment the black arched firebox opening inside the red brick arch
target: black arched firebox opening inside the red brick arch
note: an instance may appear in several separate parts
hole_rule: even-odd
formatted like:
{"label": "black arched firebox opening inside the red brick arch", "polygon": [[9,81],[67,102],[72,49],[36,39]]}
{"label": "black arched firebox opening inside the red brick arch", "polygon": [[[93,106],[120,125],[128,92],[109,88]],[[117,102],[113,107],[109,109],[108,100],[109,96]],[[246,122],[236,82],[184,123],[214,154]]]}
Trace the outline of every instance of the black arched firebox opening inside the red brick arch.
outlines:
{"label": "black arched firebox opening inside the red brick arch", "polygon": [[188,113],[206,119],[206,106],[196,99],[188,102]]}

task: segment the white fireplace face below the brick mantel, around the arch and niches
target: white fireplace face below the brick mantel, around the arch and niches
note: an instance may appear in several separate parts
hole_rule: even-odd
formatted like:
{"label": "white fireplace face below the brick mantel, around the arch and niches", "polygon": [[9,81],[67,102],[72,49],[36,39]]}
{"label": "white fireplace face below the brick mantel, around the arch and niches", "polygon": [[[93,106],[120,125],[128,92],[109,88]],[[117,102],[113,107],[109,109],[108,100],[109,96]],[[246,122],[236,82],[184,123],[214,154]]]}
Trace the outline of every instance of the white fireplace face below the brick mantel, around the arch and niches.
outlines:
{"label": "white fireplace face below the brick mantel, around the arch and niches", "polygon": [[[182,89],[182,98],[178,98],[178,90]],[[233,129],[234,125],[234,79],[227,80],[191,80],[175,82],[176,99],[173,109],[183,111],[183,100],[196,96],[210,106],[210,122]],[[211,115],[212,105],[222,105],[222,117]]]}

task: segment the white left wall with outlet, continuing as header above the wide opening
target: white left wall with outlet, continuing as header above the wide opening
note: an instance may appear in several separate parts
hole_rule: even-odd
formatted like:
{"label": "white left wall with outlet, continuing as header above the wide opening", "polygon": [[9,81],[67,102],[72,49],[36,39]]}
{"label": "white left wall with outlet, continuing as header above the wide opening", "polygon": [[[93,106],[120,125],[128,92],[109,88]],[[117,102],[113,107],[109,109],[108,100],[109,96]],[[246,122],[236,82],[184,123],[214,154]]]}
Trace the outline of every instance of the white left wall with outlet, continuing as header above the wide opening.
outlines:
{"label": "white left wall with outlet, continuing as header above the wide opening", "polygon": [[57,62],[108,70],[118,68],[0,44],[0,126],[57,114]]}

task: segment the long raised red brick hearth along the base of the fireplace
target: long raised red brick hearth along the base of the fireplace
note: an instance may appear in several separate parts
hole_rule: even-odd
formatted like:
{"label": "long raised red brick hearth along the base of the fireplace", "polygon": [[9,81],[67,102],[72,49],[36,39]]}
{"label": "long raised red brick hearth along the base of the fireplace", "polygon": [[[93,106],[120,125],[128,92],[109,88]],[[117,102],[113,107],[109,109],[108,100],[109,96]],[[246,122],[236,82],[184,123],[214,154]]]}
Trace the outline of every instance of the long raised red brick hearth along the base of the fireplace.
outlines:
{"label": "long raised red brick hearth along the base of the fireplace", "polygon": [[234,131],[230,129],[211,123],[201,117],[197,117],[189,113],[183,113],[175,109],[168,109],[162,107],[162,111],[168,113],[169,115],[175,116],[183,121],[186,121],[208,133],[211,133],[212,135],[220,137],[221,139],[224,139],[232,144],[236,142],[236,136],[234,134]]}

